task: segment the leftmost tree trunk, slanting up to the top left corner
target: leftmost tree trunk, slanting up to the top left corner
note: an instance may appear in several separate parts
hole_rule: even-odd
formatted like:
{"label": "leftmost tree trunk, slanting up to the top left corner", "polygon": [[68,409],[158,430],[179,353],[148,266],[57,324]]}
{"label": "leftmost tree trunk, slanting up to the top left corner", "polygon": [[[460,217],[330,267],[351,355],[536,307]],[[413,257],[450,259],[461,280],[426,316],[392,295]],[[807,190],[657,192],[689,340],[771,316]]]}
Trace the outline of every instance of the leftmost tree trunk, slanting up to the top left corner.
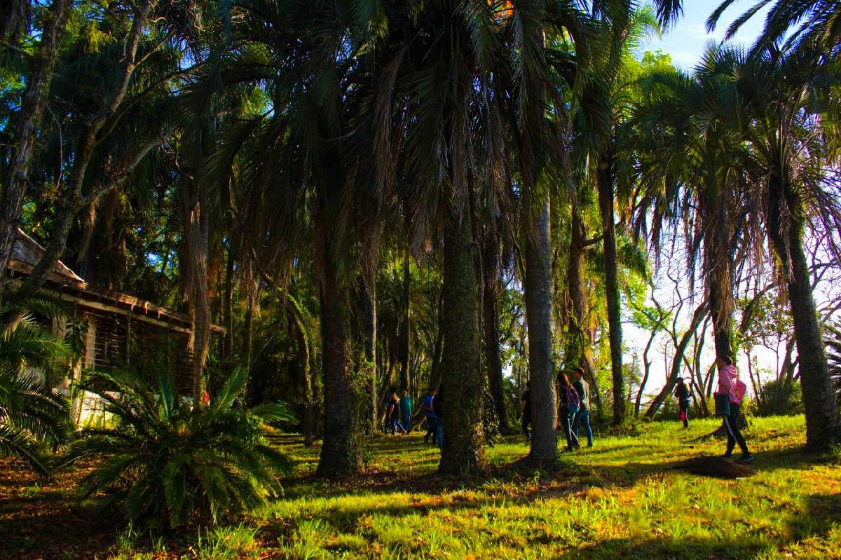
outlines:
{"label": "leftmost tree trunk, slanting up to the top left corner", "polygon": [[54,0],[50,5],[50,15],[41,34],[34,70],[27,77],[20,110],[14,116],[13,154],[3,177],[3,205],[0,207],[0,279],[6,277],[14,241],[18,237],[20,209],[29,181],[29,162],[50,95],[53,71],[58,60],[58,45],[71,6],[71,0]]}

